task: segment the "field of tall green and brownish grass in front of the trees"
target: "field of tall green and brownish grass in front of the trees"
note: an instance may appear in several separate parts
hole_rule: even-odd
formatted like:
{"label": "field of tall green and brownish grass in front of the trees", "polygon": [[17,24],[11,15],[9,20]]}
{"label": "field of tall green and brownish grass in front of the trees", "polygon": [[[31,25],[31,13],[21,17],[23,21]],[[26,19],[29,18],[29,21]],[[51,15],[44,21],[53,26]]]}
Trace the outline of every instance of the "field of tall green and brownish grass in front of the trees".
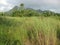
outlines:
{"label": "field of tall green and brownish grass in front of the trees", "polygon": [[55,17],[0,17],[0,45],[60,45],[59,37]]}

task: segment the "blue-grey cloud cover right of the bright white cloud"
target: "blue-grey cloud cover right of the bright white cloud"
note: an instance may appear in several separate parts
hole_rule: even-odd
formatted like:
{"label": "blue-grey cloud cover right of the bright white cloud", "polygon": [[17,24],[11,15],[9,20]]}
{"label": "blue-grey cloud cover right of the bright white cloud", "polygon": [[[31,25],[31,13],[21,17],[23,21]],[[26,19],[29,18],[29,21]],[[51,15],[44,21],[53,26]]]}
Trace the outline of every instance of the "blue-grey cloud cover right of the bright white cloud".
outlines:
{"label": "blue-grey cloud cover right of the bright white cloud", "polygon": [[[42,10],[55,10],[55,12],[60,12],[60,0],[49,0],[49,1],[53,1],[52,3],[48,3],[48,2],[45,2],[46,0],[7,0],[8,4],[11,6],[11,7],[14,7],[16,5],[19,5],[20,3],[24,3],[25,4],[25,7],[27,8],[34,8],[34,9],[42,9]],[[57,3],[57,2],[58,3]],[[6,10],[9,10],[9,8],[7,9],[7,7],[9,5],[0,5],[1,6],[4,6]]]}

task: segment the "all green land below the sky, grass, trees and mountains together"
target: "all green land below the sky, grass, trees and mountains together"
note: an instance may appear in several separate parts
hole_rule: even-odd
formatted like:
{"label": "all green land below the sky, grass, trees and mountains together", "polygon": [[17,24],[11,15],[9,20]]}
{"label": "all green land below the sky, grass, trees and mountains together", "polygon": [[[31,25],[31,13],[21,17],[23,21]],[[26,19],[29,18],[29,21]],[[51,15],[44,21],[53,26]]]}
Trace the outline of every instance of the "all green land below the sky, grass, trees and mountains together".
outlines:
{"label": "all green land below the sky, grass, trees and mountains together", "polygon": [[0,12],[0,45],[60,45],[59,16],[51,11],[24,8],[23,3]]}

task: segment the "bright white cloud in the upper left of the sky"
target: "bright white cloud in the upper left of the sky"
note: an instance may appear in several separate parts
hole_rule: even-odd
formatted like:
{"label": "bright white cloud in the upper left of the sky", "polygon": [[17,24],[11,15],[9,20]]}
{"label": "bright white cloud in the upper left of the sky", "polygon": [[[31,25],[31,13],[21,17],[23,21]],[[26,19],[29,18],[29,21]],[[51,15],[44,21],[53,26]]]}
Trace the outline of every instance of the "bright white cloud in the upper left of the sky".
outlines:
{"label": "bright white cloud in the upper left of the sky", "polygon": [[0,0],[0,11],[6,11],[13,7],[12,4],[8,3],[7,0]]}

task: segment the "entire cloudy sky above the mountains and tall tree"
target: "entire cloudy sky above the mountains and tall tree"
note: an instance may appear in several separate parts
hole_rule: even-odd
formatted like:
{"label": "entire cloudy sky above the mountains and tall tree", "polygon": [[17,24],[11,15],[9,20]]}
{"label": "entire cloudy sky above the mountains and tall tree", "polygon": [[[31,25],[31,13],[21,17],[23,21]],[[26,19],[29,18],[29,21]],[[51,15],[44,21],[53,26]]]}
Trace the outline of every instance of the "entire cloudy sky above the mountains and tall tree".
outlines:
{"label": "entire cloudy sky above the mountains and tall tree", "polygon": [[0,0],[0,11],[8,11],[21,3],[24,3],[27,8],[60,13],[60,0]]}

